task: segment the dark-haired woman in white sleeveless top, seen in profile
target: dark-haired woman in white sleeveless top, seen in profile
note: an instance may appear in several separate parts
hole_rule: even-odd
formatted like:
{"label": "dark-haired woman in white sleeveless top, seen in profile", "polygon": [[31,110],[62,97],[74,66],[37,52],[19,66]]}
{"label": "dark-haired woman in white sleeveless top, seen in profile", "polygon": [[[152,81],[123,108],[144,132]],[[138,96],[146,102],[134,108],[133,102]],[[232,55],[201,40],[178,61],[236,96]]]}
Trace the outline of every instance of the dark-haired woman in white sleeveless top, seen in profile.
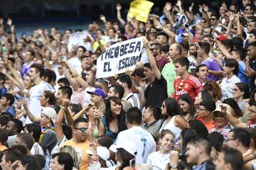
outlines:
{"label": "dark-haired woman in white sleeveless top, seen in profile", "polygon": [[160,129],[168,129],[174,133],[174,143],[181,140],[181,131],[188,128],[188,123],[181,115],[181,108],[178,106],[178,102],[174,98],[166,98],[161,106],[162,115],[166,116],[166,120]]}

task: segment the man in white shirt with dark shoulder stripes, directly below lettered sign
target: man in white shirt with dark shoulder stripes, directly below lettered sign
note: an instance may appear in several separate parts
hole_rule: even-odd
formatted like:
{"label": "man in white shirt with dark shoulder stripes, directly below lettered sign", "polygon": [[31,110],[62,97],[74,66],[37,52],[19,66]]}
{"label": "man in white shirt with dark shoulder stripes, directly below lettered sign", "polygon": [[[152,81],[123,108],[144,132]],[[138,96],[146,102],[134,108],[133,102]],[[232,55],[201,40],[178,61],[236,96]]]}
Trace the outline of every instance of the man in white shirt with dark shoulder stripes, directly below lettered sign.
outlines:
{"label": "man in white shirt with dark shoulder stripes, directly below lettered sign", "polygon": [[132,79],[127,74],[120,74],[117,77],[117,84],[124,87],[124,96],[122,99],[129,101],[132,107],[140,108],[139,99],[132,93]]}

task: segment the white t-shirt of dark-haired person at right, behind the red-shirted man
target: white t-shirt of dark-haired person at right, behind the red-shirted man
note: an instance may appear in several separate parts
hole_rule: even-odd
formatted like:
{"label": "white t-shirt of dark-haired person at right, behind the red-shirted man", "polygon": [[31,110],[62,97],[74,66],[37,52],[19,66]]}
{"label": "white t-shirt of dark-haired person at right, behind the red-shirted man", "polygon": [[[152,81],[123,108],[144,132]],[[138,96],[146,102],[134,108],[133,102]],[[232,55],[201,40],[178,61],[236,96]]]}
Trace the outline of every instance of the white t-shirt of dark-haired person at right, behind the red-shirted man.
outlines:
{"label": "white t-shirt of dark-haired person at right, behind the red-shirted man", "polygon": [[228,77],[225,77],[221,82],[221,92],[223,94],[223,98],[221,98],[221,101],[224,101],[226,98],[233,98],[233,89],[235,87],[235,84],[240,82],[240,79],[236,75],[233,75],[233,77],[231,77],[230,79],[228,79]]}

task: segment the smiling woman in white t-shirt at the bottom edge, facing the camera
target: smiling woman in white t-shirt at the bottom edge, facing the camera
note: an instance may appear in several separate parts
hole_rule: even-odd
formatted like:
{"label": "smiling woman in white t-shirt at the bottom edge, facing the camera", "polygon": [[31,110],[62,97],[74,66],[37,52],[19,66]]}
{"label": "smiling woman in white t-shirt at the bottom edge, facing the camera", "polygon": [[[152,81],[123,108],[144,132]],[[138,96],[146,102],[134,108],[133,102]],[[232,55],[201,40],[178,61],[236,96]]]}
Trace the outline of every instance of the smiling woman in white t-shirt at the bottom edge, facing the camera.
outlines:
{"label": "smiling woman in white t-shirt at the bottom edge, facing the camera", "polygon": [[174,133],[172,133],[171,130],[162,130],[159,137],[160,150],[149,154],[146,161],[146,164],[149,164],[152,170],[164,170],[166,165],[170,162]]}

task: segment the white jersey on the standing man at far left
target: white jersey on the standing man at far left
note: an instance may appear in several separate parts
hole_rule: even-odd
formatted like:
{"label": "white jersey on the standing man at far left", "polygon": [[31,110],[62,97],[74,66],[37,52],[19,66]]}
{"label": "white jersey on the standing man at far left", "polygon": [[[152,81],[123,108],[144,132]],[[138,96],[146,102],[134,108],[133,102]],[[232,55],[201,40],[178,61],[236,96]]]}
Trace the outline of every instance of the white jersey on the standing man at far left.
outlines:
{"label": "white jersey on the standing man at far left", "polygon": [[[40,116],[41,113],[41,103],[39,101],[40,96],[43,94],[43,91],[53,91],[53,86],[46,83],[45,81],[41,81],[40,84],[35,85],[31,88],[29,94],[29,101],[28,101],[28,110],[36,117]],[[53,91],[54,92],[54,91]],[[26,124],[32,123],[31,120],[26,118]]]}

